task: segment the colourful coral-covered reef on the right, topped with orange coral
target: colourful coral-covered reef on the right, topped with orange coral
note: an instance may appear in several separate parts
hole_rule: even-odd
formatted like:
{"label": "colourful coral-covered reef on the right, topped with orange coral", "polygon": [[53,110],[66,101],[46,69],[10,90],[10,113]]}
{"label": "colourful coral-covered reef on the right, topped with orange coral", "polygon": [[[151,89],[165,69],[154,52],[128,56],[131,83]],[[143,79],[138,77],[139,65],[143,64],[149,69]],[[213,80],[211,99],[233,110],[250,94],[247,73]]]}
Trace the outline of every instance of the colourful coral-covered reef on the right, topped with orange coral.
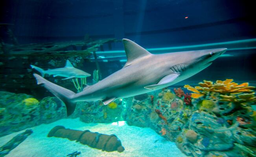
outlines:
{"label": "colourful coral-covered reef on the right, topped with orange coral", "polygon": [[[255,87],[232,79],[151,93],[153,104],[133,100],[129,125],[150,127],[193,157],[253,157],[256,154]],[[138,112],[137,104],[143,106]],[[147,105],[146,105],[147,104]]]}

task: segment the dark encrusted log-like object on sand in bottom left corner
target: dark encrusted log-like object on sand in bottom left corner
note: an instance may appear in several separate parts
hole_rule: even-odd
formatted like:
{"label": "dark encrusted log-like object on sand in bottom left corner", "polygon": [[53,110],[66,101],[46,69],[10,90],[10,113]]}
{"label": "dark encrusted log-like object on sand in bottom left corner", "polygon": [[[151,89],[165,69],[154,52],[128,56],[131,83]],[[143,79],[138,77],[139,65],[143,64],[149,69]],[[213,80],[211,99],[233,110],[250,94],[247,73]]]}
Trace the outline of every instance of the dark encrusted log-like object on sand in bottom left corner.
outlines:
{"label": "dark encrusted log-like object on sand in bottom left corner", "polygon": [[4,144],[0,147],[0,157],[4,157],[7,155],[11,150],[16,148],[20,143],[22,143],[29,135],[31,135],[33,131],[31,129],[28,129],[24,131],[23,133],[19,133],[15,137],[13,137],[9,142]]}

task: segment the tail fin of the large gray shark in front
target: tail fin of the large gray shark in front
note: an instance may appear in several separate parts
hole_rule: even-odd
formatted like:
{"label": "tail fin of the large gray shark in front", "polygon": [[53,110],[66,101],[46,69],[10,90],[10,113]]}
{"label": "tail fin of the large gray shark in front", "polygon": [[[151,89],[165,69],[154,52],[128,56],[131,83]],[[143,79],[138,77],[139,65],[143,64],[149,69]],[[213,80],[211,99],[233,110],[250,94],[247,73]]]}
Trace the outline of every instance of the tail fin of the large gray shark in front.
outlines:
{"label": "tail fin of the large gray shark in front", "polygon": [[57,98],[61,99],[64,102],[64,104],[66,105],[67,116],[70,116],[72,113],[74,113],[76,109],[76,102],[72,102],[71,98],[76,93],[61,86],[58,86],[57,84],[54,84],[42,78],[40,75],[37,75],[35,73],[33,75],[37,79],[37,84],[42,84],[46,89],[48,89],[48,91],[50,91],[53,95],[55,95]]}

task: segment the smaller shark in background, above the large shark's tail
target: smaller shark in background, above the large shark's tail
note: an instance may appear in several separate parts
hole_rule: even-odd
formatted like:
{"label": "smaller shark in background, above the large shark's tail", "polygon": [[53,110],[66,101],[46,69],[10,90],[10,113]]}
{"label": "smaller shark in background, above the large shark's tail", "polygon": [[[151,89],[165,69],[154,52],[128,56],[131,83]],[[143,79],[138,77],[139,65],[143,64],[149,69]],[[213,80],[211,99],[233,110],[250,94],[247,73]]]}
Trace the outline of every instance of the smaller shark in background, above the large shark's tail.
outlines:
{"label": "smaller shark in background, above the large shark's tail", "polygon": [[44,70],[33,65],[30,65],[30,66],[31,68],[34,68],[37,71],[39,71],[42,77],[44,77],[44,74],[48,74],[48,75],[53,75],[53,77],[56,77],[56,76],[66,77],[65,79],[63,79],[63,80],[66,80],[66,79],[72,79],[72,78],[85,78],[85,77],[91,76],[87,72],[75,68],[70,63],[69,60],[66,61],[66,66],[64,68]]}

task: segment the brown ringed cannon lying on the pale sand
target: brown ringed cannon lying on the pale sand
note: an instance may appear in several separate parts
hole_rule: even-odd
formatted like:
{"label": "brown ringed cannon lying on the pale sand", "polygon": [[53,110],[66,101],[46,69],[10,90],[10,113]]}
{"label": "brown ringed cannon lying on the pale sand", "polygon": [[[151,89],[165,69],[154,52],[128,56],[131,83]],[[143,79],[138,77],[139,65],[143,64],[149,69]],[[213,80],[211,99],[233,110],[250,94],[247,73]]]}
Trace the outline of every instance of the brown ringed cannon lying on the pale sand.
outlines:
{"label": "brown ringed cannon lying on the pale sand", "polygon": [[50,130],[48,137],[67,138],[70,141],[76,140],[81,144],[86,144],[92,148],[96,148],[106,152],[123,152],[124,147],[116,135],[106,135],[97,132],[90,132],[89,130],[72,130],[66,129],[64,126],[55,126]]}

